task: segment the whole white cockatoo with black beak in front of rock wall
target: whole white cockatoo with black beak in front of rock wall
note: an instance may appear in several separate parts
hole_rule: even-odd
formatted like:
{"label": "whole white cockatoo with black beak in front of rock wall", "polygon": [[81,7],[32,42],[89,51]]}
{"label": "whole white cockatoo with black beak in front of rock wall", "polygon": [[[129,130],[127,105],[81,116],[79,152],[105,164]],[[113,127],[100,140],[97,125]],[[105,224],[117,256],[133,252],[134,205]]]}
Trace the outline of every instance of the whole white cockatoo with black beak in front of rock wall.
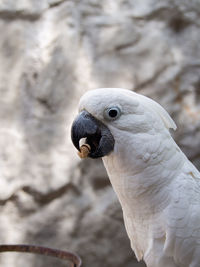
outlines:
{"label": "whole white cockatoo with black beak in front of rock wall", "polygon": [[130,245],[147,267],[200,267],[200,173],[174,141],[176,124],[132,90],[83,94],[71,139],[102,158]]}

